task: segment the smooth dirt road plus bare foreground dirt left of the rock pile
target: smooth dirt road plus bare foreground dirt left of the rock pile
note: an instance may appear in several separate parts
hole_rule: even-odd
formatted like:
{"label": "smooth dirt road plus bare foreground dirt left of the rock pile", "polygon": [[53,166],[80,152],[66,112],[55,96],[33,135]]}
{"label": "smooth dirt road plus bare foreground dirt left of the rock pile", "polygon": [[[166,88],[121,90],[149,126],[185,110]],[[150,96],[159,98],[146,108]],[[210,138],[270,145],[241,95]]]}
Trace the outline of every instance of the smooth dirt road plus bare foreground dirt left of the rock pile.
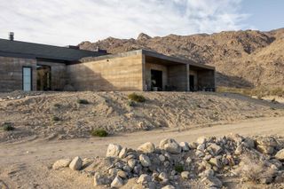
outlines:
{"label": "smooth dirt road plus bare foreground dirt left of the rock pile", "polygon": [[104,156],[109,143],[136,148],[146,141],[158,145],[162,138],[193,141],[200,136],[222,136],[229,133],[284,136],[284,117],[257,118],[211,127],[140,131],[109,138],[43,140],[6,143],[0,146],[1,180],[11,188],[93,188],[92,177],[69,169],[56,171],[51,164],[60,158]]}

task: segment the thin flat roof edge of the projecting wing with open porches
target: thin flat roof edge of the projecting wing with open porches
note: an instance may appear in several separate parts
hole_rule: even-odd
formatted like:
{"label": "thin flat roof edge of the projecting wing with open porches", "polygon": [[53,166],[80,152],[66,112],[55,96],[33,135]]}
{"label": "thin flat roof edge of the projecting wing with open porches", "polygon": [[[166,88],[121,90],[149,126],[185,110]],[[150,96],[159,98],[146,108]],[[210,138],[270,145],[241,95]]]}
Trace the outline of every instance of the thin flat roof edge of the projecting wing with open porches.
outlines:
{"label": "thin flat roof edge of the projecting wing with open porches", "polygon": [[148,57],[154,57],[156,59],[164,59],[164,60],[167,60],[170,62],[176,62],[179,64],[188,64],[193,67],[202,67],[206,69],[215,70],[215,67],[196,63],[191,59],[179,59],[176,57],[167,56],[167,55],[158,53],[156,51],[148,51],[148,50],[126,51],[126,52],[121,52],[117,54],[109,54],[109,55],[99,56],[99,57],[86,57],[86,58],[80,59],[80,61],[84,63],[84,62],[98,61],[98,60],[103,60],[103,59],[115,59],[115,58],[129,57],[129,56],[138,55],[138,54],[144,54]]}

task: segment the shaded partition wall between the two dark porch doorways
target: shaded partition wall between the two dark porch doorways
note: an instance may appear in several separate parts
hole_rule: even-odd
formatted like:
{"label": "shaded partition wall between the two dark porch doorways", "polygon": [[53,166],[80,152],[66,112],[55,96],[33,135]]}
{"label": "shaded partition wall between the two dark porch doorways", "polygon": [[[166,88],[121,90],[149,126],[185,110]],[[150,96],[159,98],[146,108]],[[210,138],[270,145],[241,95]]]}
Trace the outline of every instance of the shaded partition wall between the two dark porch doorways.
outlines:
{"label": "shaded partition wall between the two dark porch doorways", "polygon": [[186,65],[169,66],[168,83],[170,86],[174,86],[177,91],[187,91],[188,70]]}

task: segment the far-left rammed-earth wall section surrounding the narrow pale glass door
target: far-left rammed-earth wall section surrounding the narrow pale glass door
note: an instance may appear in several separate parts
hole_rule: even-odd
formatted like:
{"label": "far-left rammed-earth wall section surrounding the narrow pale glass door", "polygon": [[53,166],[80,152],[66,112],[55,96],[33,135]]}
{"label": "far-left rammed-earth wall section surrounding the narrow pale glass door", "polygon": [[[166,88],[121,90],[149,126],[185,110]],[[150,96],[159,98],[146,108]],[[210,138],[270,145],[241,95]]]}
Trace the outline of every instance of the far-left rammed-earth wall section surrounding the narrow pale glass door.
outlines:
{"label": "far-left rammed-earth wall section surrounding the narrow pale glass door", "polygon": [[22,90],[22,67],[32,67],[32,85],[36,91],[36,59],[0,57],[0,91]]}

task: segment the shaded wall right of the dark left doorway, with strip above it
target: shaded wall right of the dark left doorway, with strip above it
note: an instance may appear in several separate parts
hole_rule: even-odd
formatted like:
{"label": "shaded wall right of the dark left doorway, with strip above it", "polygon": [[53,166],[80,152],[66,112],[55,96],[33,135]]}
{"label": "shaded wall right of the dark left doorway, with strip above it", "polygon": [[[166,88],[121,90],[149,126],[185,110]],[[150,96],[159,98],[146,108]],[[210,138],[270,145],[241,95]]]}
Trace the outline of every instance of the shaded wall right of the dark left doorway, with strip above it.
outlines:
{"label": "shaded wall right of the dark left doorway, with strip above it", "polygon": [[62,63],[37,61],[37,65],[51,67],[51,90],[62,91],[67,83],[66,65]]}

